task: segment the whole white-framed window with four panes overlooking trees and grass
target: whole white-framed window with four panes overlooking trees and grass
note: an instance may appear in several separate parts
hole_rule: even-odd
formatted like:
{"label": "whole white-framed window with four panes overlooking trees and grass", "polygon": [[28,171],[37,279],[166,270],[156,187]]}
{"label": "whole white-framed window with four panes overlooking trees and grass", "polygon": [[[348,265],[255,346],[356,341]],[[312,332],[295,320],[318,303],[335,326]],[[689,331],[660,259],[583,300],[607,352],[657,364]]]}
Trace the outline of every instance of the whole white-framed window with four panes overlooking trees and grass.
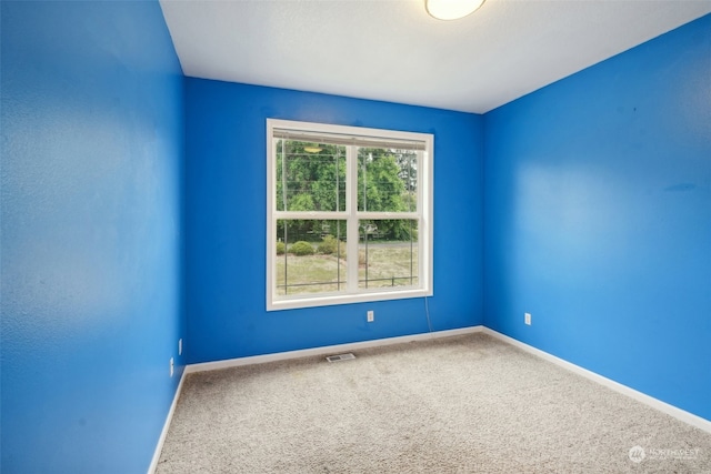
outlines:
{"label": "whole white-framed window with four panes overlooking trees and grass", "polygon": [[432,294],[424,133],[267,121],[267,309]]}

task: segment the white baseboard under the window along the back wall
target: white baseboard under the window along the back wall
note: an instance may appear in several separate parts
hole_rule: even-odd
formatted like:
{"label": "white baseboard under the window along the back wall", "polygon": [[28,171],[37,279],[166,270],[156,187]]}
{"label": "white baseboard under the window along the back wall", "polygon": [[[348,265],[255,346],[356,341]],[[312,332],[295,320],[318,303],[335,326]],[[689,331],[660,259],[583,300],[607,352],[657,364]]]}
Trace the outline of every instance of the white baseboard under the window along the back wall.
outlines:
{"label": "white baseboard under the window along the back wall", "polygon": [[264,364],[267,362],[286,361],[289,359],[310,357],[313,355],[338,354],[358,351],[359,349],[377,347],[381,345],[401,344],[403,342],[423,341],[428,339],[449,337],[452,335],[471,334],[483,331],[483,326],[470,326],[449,331],[402,335],[398,337],[375,339],[371,341],[352,342],[348,344],[327,345],[323,347],[303,349],[300,351],[278,352],[276,354],[252,355],[249,357],[229,359],[226,361],[203,362],[186,366],[186,373],[217,371],[220,369],[239,367],[242,365]]}

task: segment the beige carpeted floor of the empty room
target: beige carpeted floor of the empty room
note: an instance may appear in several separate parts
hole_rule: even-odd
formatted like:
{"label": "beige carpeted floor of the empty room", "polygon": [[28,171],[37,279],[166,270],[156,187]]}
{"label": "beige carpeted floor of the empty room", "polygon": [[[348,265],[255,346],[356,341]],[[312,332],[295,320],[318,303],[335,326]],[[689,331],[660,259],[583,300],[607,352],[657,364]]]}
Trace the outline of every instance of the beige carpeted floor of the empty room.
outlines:
{"label": "beige carpeted floor of the empty room", "polygon": [[157,472],[711,473],[711,434],[492,336],[354,353],[189,374]]}

